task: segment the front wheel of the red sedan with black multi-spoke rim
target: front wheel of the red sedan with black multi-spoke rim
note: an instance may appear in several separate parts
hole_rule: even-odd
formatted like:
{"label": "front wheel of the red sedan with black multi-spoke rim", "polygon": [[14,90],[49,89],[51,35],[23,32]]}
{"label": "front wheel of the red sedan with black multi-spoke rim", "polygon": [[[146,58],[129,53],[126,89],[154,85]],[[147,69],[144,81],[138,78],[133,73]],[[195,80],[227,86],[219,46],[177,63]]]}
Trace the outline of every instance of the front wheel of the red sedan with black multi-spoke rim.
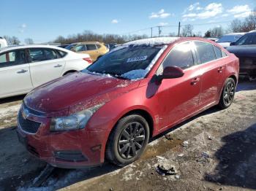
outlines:
{"label": "front wheel of the red sedan with black multi-spoke rim", "polygon": [[138,114],[123,117],[110,133],[106,158],[110,163],[119,166],[128,165],[144,152],[148,139],[149,126],[143,117]]}

